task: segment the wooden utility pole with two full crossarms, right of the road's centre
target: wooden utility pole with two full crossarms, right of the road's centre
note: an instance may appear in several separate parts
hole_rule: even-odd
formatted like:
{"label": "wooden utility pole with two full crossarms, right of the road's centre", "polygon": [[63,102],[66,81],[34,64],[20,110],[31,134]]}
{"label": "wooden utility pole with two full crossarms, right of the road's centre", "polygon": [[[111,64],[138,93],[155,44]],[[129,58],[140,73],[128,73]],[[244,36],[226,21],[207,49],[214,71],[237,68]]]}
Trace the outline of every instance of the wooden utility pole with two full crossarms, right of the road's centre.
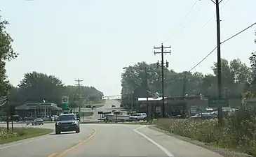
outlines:
{"label": "wooden utility pole with two full crossarms, right of the road's centre", "polygon": [[[166,117],[166,111],[165,111],[165,106],[164,106],[164,76],[163,76],[163,71],[164,71],[164,63],[163,63],[163,54],[170,54],[170,51],[163,52],[164,49],[170,49],[171,47],[163,47],[163,43],[161,47],[154,47],[154,49],[161,49],[161,52],[154,52],[154,54],[161,54],[161,74],[162,74],[162,99],[163,99],[163,118]],[[166,61],[166,66],[168,67],[168,62]]]}

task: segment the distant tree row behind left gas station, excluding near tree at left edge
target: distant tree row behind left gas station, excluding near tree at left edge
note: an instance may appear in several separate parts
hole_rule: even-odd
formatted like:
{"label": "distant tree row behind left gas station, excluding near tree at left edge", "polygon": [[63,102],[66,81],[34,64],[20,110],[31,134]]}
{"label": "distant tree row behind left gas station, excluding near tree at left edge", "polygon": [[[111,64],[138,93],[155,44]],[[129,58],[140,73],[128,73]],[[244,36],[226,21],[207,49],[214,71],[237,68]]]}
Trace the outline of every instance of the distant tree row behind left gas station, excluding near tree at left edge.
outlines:
{"label": "distant tree row behind left gas station, excluding near tree at left edge", "polygon": [[101,91],[95,87],[79,87],[65,84],[53,75],[44,73],[25,73],[24,78],[18,84],[18,87],[11,87],[9,90],[9,100],[11,103],[38,103],[43,100],[49,103],[61,103],[62,96],[69,96],[69,103],[76,104],[83,100],[100,100],[103,96]]}

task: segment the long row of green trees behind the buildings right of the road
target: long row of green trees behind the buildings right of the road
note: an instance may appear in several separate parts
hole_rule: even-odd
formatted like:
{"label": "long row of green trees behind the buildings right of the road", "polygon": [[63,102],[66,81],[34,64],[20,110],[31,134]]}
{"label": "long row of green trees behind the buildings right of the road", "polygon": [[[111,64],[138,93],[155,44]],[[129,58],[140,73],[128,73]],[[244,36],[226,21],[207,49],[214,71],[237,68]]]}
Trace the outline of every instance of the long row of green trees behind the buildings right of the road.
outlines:
{"label": "long row of green trees behind the buildings right of the road", "polygon": [[[254,42],[256,43],[256,40]],[[247,66],[240,59],[231,61],[221,59],[223,96],[227,98],[254,97],[256,94],[256,52],[251,53],[249,61],[250,66]],[[164,95],[217,96],[217,63],[214,62],[211,68],[213,74],[192,73],[191,71],[177,73],[165,67]],[[130,104],[131,98],[136,100],[138,97],[152,97],[156,92],[161,96],[161,66],[145,62],[129,66],[121,74],[121,87],[122,102],[126,105]]]}

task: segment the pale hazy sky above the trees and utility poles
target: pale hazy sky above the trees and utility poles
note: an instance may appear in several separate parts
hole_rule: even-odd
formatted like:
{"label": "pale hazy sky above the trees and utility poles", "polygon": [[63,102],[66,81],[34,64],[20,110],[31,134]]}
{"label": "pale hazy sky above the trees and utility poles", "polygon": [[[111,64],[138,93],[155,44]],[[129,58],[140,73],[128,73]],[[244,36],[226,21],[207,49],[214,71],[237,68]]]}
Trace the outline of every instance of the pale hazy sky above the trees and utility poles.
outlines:
{"label": "pale hazy sky above the trees and utility poles", "polygon": [[[20,54],[7,63],[8,77],[18,85],[25,73],[36,70],[56,75],[65,84],[75,84],[75,79],[82,78],[84,85],[96,87],[105,96],[116,95],[121,92],[122,68],[138,61],[156,62],[160,55],[154,56],[153,47],[166,40],[164,46],[172,46],[172,54],[166,56],[170,68],[177,72],[189,70],[216,46],[215,4],[197,1],[185,18],[194,3],[1,0],[1,15],[10,22],[7,30],[14,39],[14,50]],[[255,6],[255,0],[223,0],[221,39],[256,22]],[[255,29],[224,43],[222,57],[239,57],[249,64],[250,52],[256,50]],[[214,52],[194,71],[212,73],[210,66],[216,58]]]}

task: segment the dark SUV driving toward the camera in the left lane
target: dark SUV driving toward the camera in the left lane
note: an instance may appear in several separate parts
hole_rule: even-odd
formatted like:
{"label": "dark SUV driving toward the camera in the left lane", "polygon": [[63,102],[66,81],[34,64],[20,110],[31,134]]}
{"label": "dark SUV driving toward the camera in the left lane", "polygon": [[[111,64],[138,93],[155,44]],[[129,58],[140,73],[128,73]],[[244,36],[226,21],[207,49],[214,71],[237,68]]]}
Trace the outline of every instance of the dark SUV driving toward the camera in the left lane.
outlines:
{"label": "dark SUV driving toward the camera in the left lane", "polygon": [[76,114],[61,114],[55,124],[55,133],[76,131],[80,133],[80,124],[77,120]]}

